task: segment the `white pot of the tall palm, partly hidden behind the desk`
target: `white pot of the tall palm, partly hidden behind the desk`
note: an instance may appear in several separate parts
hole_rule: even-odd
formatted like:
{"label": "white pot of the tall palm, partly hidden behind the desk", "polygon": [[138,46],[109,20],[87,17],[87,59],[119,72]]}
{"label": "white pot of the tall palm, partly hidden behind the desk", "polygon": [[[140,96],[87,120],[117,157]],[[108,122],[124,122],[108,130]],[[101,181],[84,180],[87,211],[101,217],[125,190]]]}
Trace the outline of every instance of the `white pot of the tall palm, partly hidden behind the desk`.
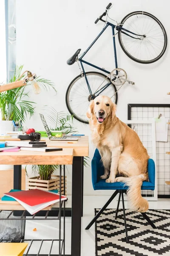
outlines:
{"label": "white pot of the tall palm, partly hidden behind the desk", "polygon": [[[12,121],[0,120],[0,136],[1,136],[1,134],[5,134],[6,131],[13,131]],[[6,165],[6,164],[0,165],[0,170],[8,170],[8,169],[13,169],[13,168],[14,168],[13,165]]]}

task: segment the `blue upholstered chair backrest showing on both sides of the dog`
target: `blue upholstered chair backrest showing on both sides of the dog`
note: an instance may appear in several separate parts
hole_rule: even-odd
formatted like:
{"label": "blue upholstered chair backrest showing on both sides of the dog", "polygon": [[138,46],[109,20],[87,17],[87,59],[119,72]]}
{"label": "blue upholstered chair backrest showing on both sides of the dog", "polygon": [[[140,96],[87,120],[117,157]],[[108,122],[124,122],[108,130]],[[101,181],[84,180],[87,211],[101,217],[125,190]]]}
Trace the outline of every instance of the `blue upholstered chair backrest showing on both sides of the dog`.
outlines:
{"label": "blue upholstered chair backrest showing on both sides of the dog", "polygon": [[[92,182],[95,184],[100,179],[100,176],[104,174],[104,167],[101,161],[99,150],[97,148],[94,152],[91,167]],[[151,158],[148,159],[148,177],[149,181],[155,185],[155,162]]]}

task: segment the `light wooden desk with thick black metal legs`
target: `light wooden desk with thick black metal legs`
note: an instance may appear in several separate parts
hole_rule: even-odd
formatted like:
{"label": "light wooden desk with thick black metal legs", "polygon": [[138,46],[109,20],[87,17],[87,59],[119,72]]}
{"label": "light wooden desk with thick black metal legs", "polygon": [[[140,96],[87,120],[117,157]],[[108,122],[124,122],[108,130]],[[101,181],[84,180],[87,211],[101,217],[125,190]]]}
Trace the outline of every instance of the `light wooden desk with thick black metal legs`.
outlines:
{"label": "light wooden desk with thick black metal legs", "polygon": [[71,256],[80,256],[81,216],[83,211],[83,157],[88,156],[88,137],[82,136],[77,143],[47,140],[47,144],[51,147],[63,148],[63,151],[47,153],[34,151],[1,152],[0,164],[14,164],[14,189],[21,189],[22,164],[72,163]]}

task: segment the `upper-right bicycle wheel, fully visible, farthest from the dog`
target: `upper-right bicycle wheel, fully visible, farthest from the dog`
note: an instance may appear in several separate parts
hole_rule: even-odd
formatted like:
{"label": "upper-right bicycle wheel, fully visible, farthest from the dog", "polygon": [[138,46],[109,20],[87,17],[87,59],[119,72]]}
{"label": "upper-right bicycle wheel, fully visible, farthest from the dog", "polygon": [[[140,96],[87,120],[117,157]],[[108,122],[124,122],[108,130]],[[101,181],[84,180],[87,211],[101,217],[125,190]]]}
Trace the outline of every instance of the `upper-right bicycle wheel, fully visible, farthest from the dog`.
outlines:
{"label": "upper-right bicycle wheel, fully visible, farthest from the dog", "polygon": [[[125,54],[133,61],[149,64],[158,61],[167,48],[167,34],[162,23],[148,12],[131,12],[121,21],[118,38]],[[136,35],[134,35],[134,34]]]}

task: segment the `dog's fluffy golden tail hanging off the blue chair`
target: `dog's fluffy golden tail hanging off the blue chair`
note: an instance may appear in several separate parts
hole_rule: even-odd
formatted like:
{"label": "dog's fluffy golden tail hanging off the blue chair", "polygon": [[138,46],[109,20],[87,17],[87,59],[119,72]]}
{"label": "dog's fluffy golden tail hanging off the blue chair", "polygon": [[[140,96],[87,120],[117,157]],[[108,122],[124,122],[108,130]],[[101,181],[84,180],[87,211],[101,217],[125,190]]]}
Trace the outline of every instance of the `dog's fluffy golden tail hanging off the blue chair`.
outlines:
{"label": "dog's fluffy golden tail hanging off the blue chair", "polygon": [[146,174],[129,177],[125,182],[129,186],[127,197],[131,206],[137,212],[146,212],[149,208],[148,201],[142,198],[141,195],[141,186],[144,180],[146,180]]}

